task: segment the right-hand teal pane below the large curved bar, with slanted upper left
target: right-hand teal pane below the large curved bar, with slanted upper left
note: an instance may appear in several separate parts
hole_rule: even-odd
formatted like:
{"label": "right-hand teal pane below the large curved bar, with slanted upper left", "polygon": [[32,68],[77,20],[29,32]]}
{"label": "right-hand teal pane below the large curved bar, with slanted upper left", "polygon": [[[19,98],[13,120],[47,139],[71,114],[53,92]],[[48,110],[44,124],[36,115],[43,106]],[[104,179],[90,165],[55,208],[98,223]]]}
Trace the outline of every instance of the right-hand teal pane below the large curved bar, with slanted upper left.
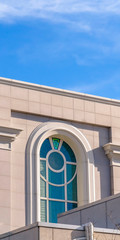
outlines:
{"label": "right-hand teal pane below the large curved bar, with slanted upper left", "polygon": [[67,185],[67,200],[77,201],[77,177]]}

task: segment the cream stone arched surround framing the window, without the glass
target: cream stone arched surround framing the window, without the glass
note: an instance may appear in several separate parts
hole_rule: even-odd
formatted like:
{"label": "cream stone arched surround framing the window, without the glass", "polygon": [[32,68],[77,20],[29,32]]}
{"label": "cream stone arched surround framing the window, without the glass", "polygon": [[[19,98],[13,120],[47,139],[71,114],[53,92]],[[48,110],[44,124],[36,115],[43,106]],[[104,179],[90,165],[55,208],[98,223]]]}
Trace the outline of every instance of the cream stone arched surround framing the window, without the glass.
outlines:
{"label": "cream stone arched surround framing the window, without the glass", "polygon": [[26,224],[40,222],[39,149],[50,136],[58,136],[72,147],[77,166],[78,206],[95,201],[95,166],[92,148],[76,127],[62,121],[40,124],[31,133],[26,146]]}

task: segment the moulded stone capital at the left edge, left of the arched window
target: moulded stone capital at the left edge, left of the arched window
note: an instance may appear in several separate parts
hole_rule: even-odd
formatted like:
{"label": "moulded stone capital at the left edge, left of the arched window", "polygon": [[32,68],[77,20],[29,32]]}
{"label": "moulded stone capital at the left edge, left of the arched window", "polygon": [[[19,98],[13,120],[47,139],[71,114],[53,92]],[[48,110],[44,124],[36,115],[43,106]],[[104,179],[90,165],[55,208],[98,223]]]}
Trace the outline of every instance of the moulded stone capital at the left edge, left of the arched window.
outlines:
{"label": "moulded stone capital at the left edge, left of the arched window", "polygon": [[0,126],[0,149],[11,150],[13,142],[22,129]]}

